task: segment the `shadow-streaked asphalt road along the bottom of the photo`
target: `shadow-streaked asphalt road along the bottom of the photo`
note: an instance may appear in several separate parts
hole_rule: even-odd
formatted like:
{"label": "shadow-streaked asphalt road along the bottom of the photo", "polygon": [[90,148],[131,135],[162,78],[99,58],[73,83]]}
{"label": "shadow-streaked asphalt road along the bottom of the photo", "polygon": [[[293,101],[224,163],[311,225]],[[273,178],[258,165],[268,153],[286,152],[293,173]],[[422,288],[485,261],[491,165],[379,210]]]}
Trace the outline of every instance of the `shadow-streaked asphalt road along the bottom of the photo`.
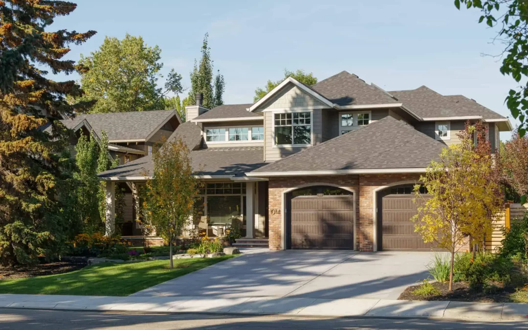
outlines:
{"label": "shadow-streaked asphalt road along the bottom of the photo", "polygon": [[464,323],[418,319],[339,319],[204,314],[124,314],[0,308],[0,329],[528,329],[528,323]]}

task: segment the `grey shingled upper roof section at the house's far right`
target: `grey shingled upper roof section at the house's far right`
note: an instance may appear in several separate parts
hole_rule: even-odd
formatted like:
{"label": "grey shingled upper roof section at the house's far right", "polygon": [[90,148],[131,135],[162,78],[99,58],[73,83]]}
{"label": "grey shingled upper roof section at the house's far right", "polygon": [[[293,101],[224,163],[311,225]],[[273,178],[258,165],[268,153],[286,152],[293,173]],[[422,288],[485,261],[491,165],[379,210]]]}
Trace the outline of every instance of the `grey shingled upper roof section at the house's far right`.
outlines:
{"label": "grey shingled upper roof section at the house's far right", "polygon": [[465,96],[444,96],[426,86],[389,93],[424,119],[468,116],[480,116],[483,119],[505,118]]}

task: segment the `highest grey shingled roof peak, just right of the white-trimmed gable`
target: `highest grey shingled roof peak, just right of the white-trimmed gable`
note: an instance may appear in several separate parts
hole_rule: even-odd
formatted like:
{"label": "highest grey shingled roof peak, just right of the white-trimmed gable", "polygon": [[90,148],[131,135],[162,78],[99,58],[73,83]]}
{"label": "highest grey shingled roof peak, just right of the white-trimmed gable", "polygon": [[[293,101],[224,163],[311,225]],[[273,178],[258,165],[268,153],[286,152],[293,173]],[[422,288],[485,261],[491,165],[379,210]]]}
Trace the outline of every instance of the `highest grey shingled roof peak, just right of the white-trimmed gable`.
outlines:
{"label": "highest grey shingled roof peak, just right of the white-trimmed gable", "polygon": [[355,74],[341,71],[334,76],[319,81],[311,87],[339,106],[364,106],[394,103],[397,100],[391,98],[381,89],[367,84]]}

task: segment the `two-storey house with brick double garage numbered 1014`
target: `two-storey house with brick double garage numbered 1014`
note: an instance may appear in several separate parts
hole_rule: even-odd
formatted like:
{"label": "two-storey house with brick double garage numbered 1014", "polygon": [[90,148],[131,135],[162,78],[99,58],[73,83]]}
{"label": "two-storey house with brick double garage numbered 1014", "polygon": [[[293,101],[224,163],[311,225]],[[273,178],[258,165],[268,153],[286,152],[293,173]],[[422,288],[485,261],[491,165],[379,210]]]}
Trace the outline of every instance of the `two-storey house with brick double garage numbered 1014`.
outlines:
{"label": "two-storey house with brick double garage numbered 1014", "polygon": [[[468,120],[485,123],[494,150],[499,132],[512,129],[464,96],[385,91],[346,71],[313,86],[287,78],[256,103],[207,109],[196,101],[169,139],[192,150],[205,226],[221,235],[239,217],[238,242],[271,250],[429,250],[410,222],[420,174],[459,142]],[[115,182],[141,184],[152,168],[147,156],[100,174],[110,183],[108,223]]]}

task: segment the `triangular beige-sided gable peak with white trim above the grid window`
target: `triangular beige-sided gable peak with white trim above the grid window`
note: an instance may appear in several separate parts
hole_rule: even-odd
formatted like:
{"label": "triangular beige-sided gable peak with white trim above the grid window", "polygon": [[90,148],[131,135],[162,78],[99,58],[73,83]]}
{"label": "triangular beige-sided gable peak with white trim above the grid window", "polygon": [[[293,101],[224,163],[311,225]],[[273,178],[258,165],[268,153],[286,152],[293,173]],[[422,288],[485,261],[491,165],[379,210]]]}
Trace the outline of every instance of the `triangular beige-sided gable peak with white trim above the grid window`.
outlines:
{"label": "triangular beige-sided gable peak with white trim above the grid window", "polygon": [[296,107],[323,107],[322,102],[308,95],[294,84],[288,84],[274,97],[264,102],[257,111],[263,109],[282,109]]}

